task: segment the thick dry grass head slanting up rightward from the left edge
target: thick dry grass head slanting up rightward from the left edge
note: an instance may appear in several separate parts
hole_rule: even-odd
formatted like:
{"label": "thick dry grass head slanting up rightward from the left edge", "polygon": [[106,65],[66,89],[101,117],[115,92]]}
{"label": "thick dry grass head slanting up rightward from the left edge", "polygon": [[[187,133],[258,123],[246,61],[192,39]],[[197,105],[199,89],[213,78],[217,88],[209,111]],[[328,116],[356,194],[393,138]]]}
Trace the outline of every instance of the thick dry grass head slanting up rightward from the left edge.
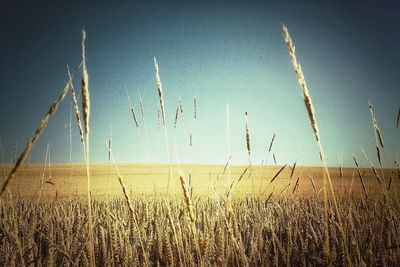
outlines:
{"label": "thick dry grass head slanting up rightward from the left edge", "polygon": [[61,91],[61,94],[58,96],[58,98],[51,104],[49,110],[47,111],[46,115],[43,117],[43,119],[40,121],[38,127],[36,128],[35,134],[33,137],[28,141],[28,143],[25,146],[24,151],[22,154],[19,156],[17,161],[15,162],[14,167],[11,169],[10,173],[7,176],[6,181],[4,182],[1,191],[0,191],[0,197],[4,193],[4,191],[7,188],[7,185],[11,182],[11,180],[15,177],[17,171],[19,168],[22,166],[24,163],[25,159],[28,157],[29,153],[31,152],[33,145],[36,143],[37,139],[40,137],[40,135],[43,133],[44,129],[46,128],[50,117],[57,111],[57,108],[59,104],[63,101],[65,96],[68,93],[69,88],[71,87],[71,80],[68,80],[67,84],[65,85],[64,89]]}

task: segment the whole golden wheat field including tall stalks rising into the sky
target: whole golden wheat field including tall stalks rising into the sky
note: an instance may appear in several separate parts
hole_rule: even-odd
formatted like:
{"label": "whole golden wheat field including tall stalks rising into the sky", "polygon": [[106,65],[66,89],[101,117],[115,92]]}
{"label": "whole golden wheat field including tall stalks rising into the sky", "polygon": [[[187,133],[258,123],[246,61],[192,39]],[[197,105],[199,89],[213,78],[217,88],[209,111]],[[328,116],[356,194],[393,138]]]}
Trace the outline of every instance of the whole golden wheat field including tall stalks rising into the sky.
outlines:
{"label": "whole golden wheat field including tall stalks rising into the sky", "polygon": [[[72,75],[15,163],[1,165],[0,266],[398,266],[400,172],[384,168],[383,137],[369,104],[379,166],[328,167],[316,114],[288,29],[321,167],[90,162],[90,90],[82,30],[80,107]],[[168,133],[159,75],[159,119]],[[26,164],[58,105],[72,94],[82,164]],[[128,95],[129,98],[129,95]],[[129,98],[130,102],[130,98]],[[178,119],[181,100],[176,110]],[[194,98],[196,118],[196,98]],[[138,114],[131,105],[136,124]],[[399,116],[397,117],[397,127]],[[271,140],[269,151],[273,145]],[[191,145],[191,135],[190,135]],[[275,156],[274,156],[275,157]],[[47,158],[46,158],[47,159]]]}

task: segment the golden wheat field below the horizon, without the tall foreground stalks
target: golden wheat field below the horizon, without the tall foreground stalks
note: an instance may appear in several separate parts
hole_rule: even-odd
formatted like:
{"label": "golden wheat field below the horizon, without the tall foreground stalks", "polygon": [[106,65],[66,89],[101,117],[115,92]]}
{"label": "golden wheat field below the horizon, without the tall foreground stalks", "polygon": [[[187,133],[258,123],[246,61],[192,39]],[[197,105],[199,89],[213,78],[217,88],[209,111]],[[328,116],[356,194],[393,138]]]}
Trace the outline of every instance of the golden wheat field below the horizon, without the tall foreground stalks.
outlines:
{"label": "golden wheat field below the horizon, without the tall foreground stalks", "polygon": [[[189,167],[192,166],[180,166]],[[297,167],[292,178],[291,170],[285,169],[273,186],[254,196],[251,177],[246,175],[234,186],[233,198],[229,199],[223,165],[194,166],[189,190],[194,226],[186,212],[177,175],[173,175],[169,194],[165,191],[167,165],[119,167],[135,220],[115,170],[107,164],[91,168],[97,266],[328,265],[322,249],[325,236],[321,168]],[[232,180],[237,180],[245,168],[232,166]],[[257,185],[265,188],[280,168],[254,166],[251,175]],[[400,256],[399,179],[392,183],[393,195],[387,201],[373,172],[364,171],[369,198],[364,197],[353,169],[344,169],[343,178],[338,168],[330,169],[350,260],[354,265],[396,265]],[[39,200],[37,190],[32,189],[39,188],[37,177],[41,175],[45,182]],[[317,190],[309,175],[315,177]],[[51,177],[49,170],[43,174],[43,165],[24,166],[9,189],[0,208],[0,265],[89,265],[84,165],[72,166],[71,180],[69,165],[51,166]],[[346,266],[331,205],[330,260],[334,265]]]}

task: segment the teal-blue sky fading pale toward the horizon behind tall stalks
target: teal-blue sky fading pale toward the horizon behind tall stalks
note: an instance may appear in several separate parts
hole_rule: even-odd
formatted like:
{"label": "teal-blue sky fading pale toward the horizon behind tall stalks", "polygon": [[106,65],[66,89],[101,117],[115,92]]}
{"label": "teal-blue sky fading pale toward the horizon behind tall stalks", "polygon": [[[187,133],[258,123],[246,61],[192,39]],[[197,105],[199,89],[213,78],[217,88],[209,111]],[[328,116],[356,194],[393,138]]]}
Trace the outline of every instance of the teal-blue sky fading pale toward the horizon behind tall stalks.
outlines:
{"label": "teal-blue sky fading pale toward the horizon behind tall stalks", "polygon": [[[345,166],[354,166],[353,154],[366,164],[361,146],[377,164],[368,100],[383,134],[384,163],[391,166],[399,153],[396,1],[6,0],[0,10],[3,162],[12,160],[14,147],[22,152],[64,87],[67,64],[75,70],[80,63],[82,25],[87,31],[92,162],[107,162],[111,128],[118,162],[167,163],[171,156],[174,163],[223,164],[231,155],[232,163],[247,164],[248,112],[253,164],[267,158],[276,133],[272,152],[278,164],[320,165],[282,24],[296,46],[328,165],[338,165],[339,154]],[[162,125],[157,126],[154,57],[164,90],[168,145]],[[79,71],[74,71],[74,85],[79,91]],[[183,113],[175,129],[179,97]],[[50,119],[29,162],[43,162],[47,144],[53,163],[70,161],[71,101],[68,95]],[[71,159],[82,162],[74,116],[71,130]],[[273,163],[272,154],[267,163]]]}

